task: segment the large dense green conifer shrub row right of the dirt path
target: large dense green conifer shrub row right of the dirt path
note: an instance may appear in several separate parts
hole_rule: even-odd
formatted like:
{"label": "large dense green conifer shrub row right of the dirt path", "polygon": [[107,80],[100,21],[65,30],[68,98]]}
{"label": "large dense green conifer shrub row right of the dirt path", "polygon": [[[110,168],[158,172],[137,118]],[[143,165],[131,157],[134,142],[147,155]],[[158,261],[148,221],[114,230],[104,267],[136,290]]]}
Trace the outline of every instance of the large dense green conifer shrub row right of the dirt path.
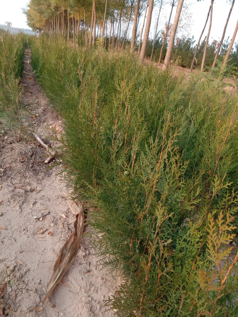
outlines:
{"label": "large dense green conifer shrub row right of the dirt path", "polygon": [[238,314],[238,98],[222,74],[184,80],[127,52],[30,41],[64,118],[66,180],[97,206],[102,265],[124,277],[106,304],[123,317]]}

